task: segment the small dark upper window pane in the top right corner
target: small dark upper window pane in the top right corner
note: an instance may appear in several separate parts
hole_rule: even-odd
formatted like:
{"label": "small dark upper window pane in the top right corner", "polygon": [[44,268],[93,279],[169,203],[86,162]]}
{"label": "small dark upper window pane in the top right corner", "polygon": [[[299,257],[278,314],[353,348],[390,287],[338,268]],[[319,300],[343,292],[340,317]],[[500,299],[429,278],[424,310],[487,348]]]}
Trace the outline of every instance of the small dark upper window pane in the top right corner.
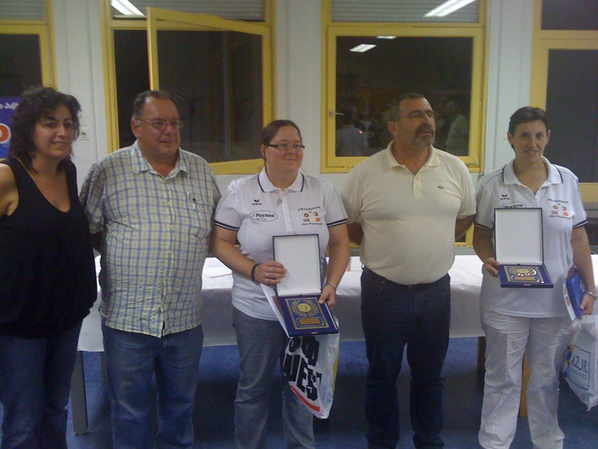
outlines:
{"label": "small dark upper window pane in the top right corner", "polygon": [[542,29],[598,30],[598,1],[542,1]]}

